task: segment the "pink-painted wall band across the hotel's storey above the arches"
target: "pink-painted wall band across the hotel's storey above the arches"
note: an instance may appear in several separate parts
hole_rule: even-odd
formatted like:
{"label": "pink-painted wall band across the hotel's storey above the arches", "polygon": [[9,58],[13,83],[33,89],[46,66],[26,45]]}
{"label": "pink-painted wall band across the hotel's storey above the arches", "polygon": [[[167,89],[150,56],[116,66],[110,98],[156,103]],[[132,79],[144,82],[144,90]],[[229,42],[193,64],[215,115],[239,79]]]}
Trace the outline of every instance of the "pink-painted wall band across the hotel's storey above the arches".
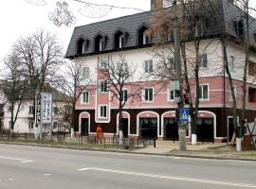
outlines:
{"label": "pink-painted wall band across the hotel's storey above the arches", "polygon": [[[195,86],[194,86],[194,79],[190,80],[191,87],[192,87],[192,96],[195,96]],[[238,80],[233,80],[234,85],[236,86],[237,90],[237,105],[242,106],[242,82]],[[222,107],[223,106],[223,77],[201,77],[200,78],[201,84],[209,84],[209,100],[200,100],[201,107]],[[167,101],[167,89],[168,85],[161,84],[157,81],[146,81],[141,83],[143,87],[154,87],[154,101],[153,102],[143,102],[142,101],[142,92],[139,91],[136,97],[129,98],[128,102],[126,103],[124,108],[131,108],[131,107],[142,107],[142,108],[160,108],[160,107],[176,107],[176,103],[174,101],[168,102]],[[248,85],[254,86],[255,85]],[[248,88],[247,86],[247,88]],[[135,93],[137,91],[134,86],[128,85],[125,87],[128,91],[132,91]],[[185,88],[185,85],[184,85]],[[226,78],[226,105],[229,107],[231,106],[230,100],[230,93],[229,93],[229,79]],[[97,104],[105,104],[109,103],[110,93],[99,93],[97,95]],[[93,108],[95,109],[95,100],[96,100],[96,93],[95,91],[90,92],[90,103],[87,105],[81,105],[81,100],[79,99],[76,103],[77,108],[88,109]],[[114,101],[111,102],[111,108],[115,107],[118,108],[119,102],[116,97],[114,97]],[[248,108],[256,108],[256,103],[248,103]]]}

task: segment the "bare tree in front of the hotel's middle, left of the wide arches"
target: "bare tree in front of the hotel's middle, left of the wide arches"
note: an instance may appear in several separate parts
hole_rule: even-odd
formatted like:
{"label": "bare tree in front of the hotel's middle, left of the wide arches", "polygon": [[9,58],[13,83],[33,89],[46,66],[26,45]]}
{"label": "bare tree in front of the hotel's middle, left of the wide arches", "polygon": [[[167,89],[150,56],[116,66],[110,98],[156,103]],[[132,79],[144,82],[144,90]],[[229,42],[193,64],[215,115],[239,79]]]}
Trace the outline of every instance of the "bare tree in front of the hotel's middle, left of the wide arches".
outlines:
{"label": "bare tree in front of the hotel's middle, left of the wide arches", "polygon": [[[137,68],[132,62],[125,60],[124,55],[119,54],[118,58],[110,58],[105,68],[99,67],[99,73],[108,82],[108,91],[111,94],[111,101],[118,100],[119,106],[119,143],[122,143],[123,138],[123,124],[122,112],[128,99],[133,101],[137,96],[141,95],[142,77],[137,78],[135,73]],[[103,87],[103,86],[100,86]],[[125,90],[126,89],[126,90]]]}

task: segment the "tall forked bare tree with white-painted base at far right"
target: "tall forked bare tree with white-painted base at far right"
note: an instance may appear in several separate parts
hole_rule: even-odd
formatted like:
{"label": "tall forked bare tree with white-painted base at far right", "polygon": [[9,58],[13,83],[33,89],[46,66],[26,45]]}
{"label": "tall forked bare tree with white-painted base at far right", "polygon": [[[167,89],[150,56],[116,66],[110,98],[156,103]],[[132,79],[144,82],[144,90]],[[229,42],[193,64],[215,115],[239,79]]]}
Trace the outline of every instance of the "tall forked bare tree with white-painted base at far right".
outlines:
{"label": "tall forked bare tree with white-painted base at far right", "polygon": [[[253,45],[250,41],[252,37],[251,30],[253,29],[253,24],[252,22],[252,17],[250,16],[251,11],[255,11],[255,8],[249,7],[251,1],[250,0],[235,0],[233,2],[233,6],[235,6],[236,9],[236,17],[233,18],[232,20],[233,23],[233,29],[235,29],[235,33],[237,37],[235,38],[236,43],[238,43],[242,48],[242,50],[245,53],[245,59],[242,59],[240,62],[241,67],[243,69],[243,74],[240,75],[242,76],[242,88],[243,88],[243,93],[242,93],[242,119],[240,120],[240,126],[244,126],[246,123],[247,119],[247,72],[248,72],[248,63],[250,60],[250,52],[251,52],[251,45]],[[240,19],[237,21],[237,19]],[[228,42],[229,42],[229,28],[228,30],[223,30],[220,41],[223,46],[223,51],[224,51],[224,65],[225,65],[225,71],[229,77],[229,88],[231,92],[231,98],[232,98],[232,114],[233,114],[233,128],[234,128],[234,133],[233,137],[241,138],[243,136],[243,129],[238,127],[238,113],[237,113],[237,97],[235,94],[235,87],[233,84],[233,73],[230,70],[229,66],[229,55],[228,55]],[[238,66],[237,66],[238,67]],[[253,82],[253,81],[252,81]],[[239,129],[239,131],[238,131]],[[236,143],[238,145],[238,143]],[[241,148],[239,144],[238,148]],[[240,150],[240,149],[239,149]]]}

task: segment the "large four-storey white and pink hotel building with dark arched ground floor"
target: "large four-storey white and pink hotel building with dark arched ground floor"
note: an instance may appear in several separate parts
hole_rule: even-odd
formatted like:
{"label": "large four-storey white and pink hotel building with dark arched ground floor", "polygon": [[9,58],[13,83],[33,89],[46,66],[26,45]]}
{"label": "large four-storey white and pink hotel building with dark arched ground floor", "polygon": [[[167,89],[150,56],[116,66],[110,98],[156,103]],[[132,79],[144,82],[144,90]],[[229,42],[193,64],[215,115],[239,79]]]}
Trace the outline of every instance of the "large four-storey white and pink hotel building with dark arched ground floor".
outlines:
{"label": "large four-storey white and pink hotel building with dark arched ground floor", "polygon": [[[242,79],[245,50],[237,43],[241,38],[236,27],[229,28],[230,22],[237,17],[238,8],[230,1],[219,0],[219,22],[209,24],[203,34],[200,53],[202,64],[199,70],[200,106],[197,121],[197,137],[202,141],[230,140],[233,133],[232,100],[229,79],[224,71],[224,52],[220,43],[220,31],[227,30],[229,69],[233,77],[237,99],[238,115],[242,108]],[[235,10],[235,11],[234,11]],[[123,134],[126,137],[158,138],[175,140],[178,138],[175,119],[176,103],[170,81],[153,77],[155,70],[162,67],[160,57],[155,56],[154,37],[148,34],[151,29],[153,12],[143,12],[113,20],[75,27],[66,58],[81,65],[86,78],[94,78],[96,87],[84,90],[76,104],[77,125],[75,130],[82,135],[95,135],[97,124],[101,124],[105,135],[118,134],[119,102],[108,90],[108,82],[101,75],[101,69],[107,69],[109,61],[125,57],[128,66],[136,68],[133,80],[140,82],[140,95],[128,98],[123,107]],[[237,21],[240,22],[240,21]],[[256,22],[250,18],[252,29],[251,52],[247,73],[247,120],[256,118]],[[217,29],[216,29],[217,28]],[[219,28],[219,29],[218,29]],[[221,28],[221,29],[220,29]],[[170,42],[172,45],[172,42]],[[187,59],[194,59],[193,42],[186,43]],[[172,58],[172,56],[171,56]],[[194,77],[190,76],[192,97],[196,95]],[[111,87],[111,86],[110,86]],[[133,89],[127,86],[123,96]],[[239,118],[238,118],[239,119]],[[191,138],[188,124],[187,138]]]}

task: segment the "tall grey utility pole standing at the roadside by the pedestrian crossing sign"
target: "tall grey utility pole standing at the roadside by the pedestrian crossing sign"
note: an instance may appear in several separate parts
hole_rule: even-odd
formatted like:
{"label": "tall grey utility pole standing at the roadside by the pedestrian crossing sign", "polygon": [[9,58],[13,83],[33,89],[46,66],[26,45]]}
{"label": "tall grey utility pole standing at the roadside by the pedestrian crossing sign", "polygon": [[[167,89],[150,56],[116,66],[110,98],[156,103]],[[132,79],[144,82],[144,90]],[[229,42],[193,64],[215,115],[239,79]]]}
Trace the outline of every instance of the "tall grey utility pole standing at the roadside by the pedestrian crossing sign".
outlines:
{"label": "tall grey utility pole standing at the roadside by the pedestrian crossing sign", "polygon": [[178,33],[178,16],[177,16],[177,4],[174,0],[174,60],[175,60],[175,80],[179,83],[178,93],[176,97],[179,97],[177,101],[177,112],[176,119],[178,123],[178,138],[179,138],[179,150],[185,151],[186,146],[186,126],[180,120],[180,113],[183,108],[183,93],[182,93],[182,74],[181,74],[181,56],[180,56],[180,42],[179,42],[179,33]]}

